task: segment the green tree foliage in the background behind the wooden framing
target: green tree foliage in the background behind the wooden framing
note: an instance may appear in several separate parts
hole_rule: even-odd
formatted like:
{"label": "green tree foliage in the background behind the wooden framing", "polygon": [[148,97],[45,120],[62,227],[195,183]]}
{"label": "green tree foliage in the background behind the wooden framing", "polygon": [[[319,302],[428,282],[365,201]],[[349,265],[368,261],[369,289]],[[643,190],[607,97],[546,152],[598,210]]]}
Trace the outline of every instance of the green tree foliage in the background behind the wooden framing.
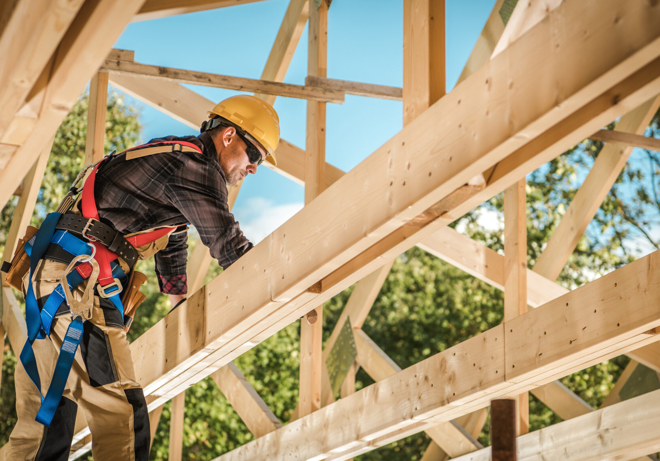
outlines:
{"label": "green tree foliage in the background behind the wooden framing", "polygon": [[[85,98],[77,103],[55,138],[40,192],[40,205],[32,219],[36,225],[46,211],[57,206],[82,167],[86,104]],[[108,101],[106,150],[121,150],[137,142],[141,128],[137,116],[137,111],[125,105],[121,97],[111,95]],[[647,135],[655,134],[657,130],[658,118],[655,117]],[[583,142],[527,176],[530,267],[539,258],[552,230],[566,212],[568,203],[601,148],[601,143]],[[575,288],[632,261],[638,253],[631,242],[643,242],[646,246],[657,248],[650,229],[660,212],[659,175],[660,157],[655,152],[642,152],[641,156],[626,165],[562,271],[559,279],[562,285]],[[14,206],[15,201],[9,203],[0,216],[0,242],[6,238]],[[502,252],[501,226],[484,226],[484,213],[499,217],[501,221],[501,194],[453,226]],[[192,235],[189,251],[195,243],[195,236]],[[147,300],[140,307],[129,332],[131,341],[170,310],[169,300],[158,292],[152,261],[141,261],[138,270],[149,275],[149,282],[142,288]],[[217,265],[212,267],[207,281],[221,270]],[[352,287],[325,303],[324,341],[329,337],[351,291]],[[405,368],[498,325],[502,321],[503,311],[500,290],[413,248],[395,261],[363,328],[399,366]],[[282,423],[290,420],[298,400],[299,349],[299,323],[295,322],[235,360]],[[0,408],[7,417],[0,422],[0,443],[7,440],[15,423],[13,369],[16,358],[8,344],[5,344],[4,352]],[[598,408],[627,363],[625,356],[614,358],[565,377],[562,383],[593,408]],[[363,370],[358,371],[356,389],[373,382]],[[531,430],[561,421],[533,396],[530,397],[529,408]],[[168,403],[164,406],[156,430],[151,460],[166,460],[168,457],[169,420]],[[253,435],[210,377],[186,391],[183,459],[211,460],[252,439]],[[479,440],[488,445],[488,423]],[[418,460],[429,442],[430,439],[420,433],[356,459]],[[90,455],[88,459],[91,459]]]}

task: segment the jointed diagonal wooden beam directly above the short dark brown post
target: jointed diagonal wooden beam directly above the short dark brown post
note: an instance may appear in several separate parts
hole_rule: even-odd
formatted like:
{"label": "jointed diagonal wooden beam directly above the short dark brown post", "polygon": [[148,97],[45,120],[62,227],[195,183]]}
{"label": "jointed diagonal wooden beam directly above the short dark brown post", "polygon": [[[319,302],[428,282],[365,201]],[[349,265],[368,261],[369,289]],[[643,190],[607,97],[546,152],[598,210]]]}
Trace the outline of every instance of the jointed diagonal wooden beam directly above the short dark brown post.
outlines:
{"label": "jointed diagonal wooden beam directly above the short dark brown post", "polygon": [[[651,338],[644,331],[660,324],[658,302],[655,252],[218,460],[294,449],[300,460],[354,456],[644,344]],[[312,437],[322,430],[333,437]]]}

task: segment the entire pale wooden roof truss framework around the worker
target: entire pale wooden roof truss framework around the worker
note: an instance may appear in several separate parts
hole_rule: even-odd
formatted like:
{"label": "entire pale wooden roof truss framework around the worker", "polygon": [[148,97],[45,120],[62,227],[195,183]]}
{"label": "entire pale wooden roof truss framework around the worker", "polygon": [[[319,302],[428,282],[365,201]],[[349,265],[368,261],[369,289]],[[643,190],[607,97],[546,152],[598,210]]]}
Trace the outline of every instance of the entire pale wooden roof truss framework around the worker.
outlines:
{"label": "entire pale wooden roof truss framework around the worker", "polygon": [[[187,303],[131,344],[152,437],[162,404],[175,401],[170,459],[181,458],[183,393],[209,375],[255,435],[223,461],[346,460],[419,431],[432,439],[424,461],[486,460],[476,439],[488,402],[502,396],[521,403],[519,459],[660,450],[660,391],[619,396],[639,364],[660,373],[660,253],[576,290],[554,282],[632,148],[657,149],[641,135],[660,107],[660,5],[498,0],[449,94],[444,0],[403,0],[403,88],[327,78],[323,0],[290,0],[260,80],[143,65],[112,49],[131,20],[250,1],[18,0],[0,11],[0,202],[20,195],[4,260],[30,220],[55,130],[88,80],[86,161],[103,155],[108,84],[193,128],[214,101],[180,83],[308,101],[306,148],[282,140],[278,166],[264,163],[304,184],[304,209],[205,286],[211,257],[198,244]],[[308,78],[284,84],[307,22]],[[347,173],[325,162],[325,105],[345,94],[403,100],[404,117],[401,132]],[[607,144],[527,269],[525,175],[589,137]],[[502,190],[504,256],[447,227]],[[505,317],[402,370],[361,327],[393,259],[414,245],[503,289]],[[300,402],[282,426],[232,360],[314,308],[322,317],[319,306],[354,283],[325,350],[322,322],[302,324]],[[18,354],[26,327],[8,286],[2,301],[0,333]],[[334,402],[325,360],[349,318],[357,355]],[[593,410],[556,381],[619,354],[633,360],[607,408]],[[377,383],[354,392],[357,367]],[[528,392],[566,421],[527,434]],[[75,432],[70,459],[90,448],[82,414]]]}

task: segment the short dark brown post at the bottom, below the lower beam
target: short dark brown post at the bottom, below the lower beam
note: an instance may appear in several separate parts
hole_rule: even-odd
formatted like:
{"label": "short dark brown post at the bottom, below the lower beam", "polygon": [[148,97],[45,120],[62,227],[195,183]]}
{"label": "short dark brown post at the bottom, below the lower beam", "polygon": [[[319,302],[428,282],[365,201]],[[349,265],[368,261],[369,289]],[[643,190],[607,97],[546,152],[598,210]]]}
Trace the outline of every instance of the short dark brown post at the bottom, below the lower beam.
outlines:
{"label": "short dark brown post at the bottom, below the lower beam", "polygon": [[490,402],[490,445],[492,461],[515,461],[516,402],[498,398]]}

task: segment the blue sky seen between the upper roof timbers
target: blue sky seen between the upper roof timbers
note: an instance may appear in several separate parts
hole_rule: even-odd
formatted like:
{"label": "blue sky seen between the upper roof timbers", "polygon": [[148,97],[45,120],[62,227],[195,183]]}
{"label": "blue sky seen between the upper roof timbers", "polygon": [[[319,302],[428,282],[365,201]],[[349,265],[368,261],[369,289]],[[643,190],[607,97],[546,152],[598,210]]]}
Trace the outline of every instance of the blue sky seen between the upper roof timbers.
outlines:
{"label": "blue sky seen between the upper roof timbers", "polygon": [[[403,2],[335,0],[328,15],[328,71],[331,78],[401,86]],[[141,63],[259,78],[288,0],[265,0],[199,13],[134,22],[116,47],[135,50]],[[447,0],[447,90],[455,84],[479,37],[494,0]],[[304,84],[305,30],[285,81]],[[189,86],[214,101],[238,92]],[[188,126],[143,107],[143,140],[170,134],[198,134]],[[210,108],[209,108],[210,109]],[[306,104],[275,102],[282,138],[304,148]],[[326,160],[347,171],[401,130],[401,102],[347,95],[328,104]],[[302,186],[265,167],[243,185],[234,214],[251,240],[261,240],[302,207]]]}

